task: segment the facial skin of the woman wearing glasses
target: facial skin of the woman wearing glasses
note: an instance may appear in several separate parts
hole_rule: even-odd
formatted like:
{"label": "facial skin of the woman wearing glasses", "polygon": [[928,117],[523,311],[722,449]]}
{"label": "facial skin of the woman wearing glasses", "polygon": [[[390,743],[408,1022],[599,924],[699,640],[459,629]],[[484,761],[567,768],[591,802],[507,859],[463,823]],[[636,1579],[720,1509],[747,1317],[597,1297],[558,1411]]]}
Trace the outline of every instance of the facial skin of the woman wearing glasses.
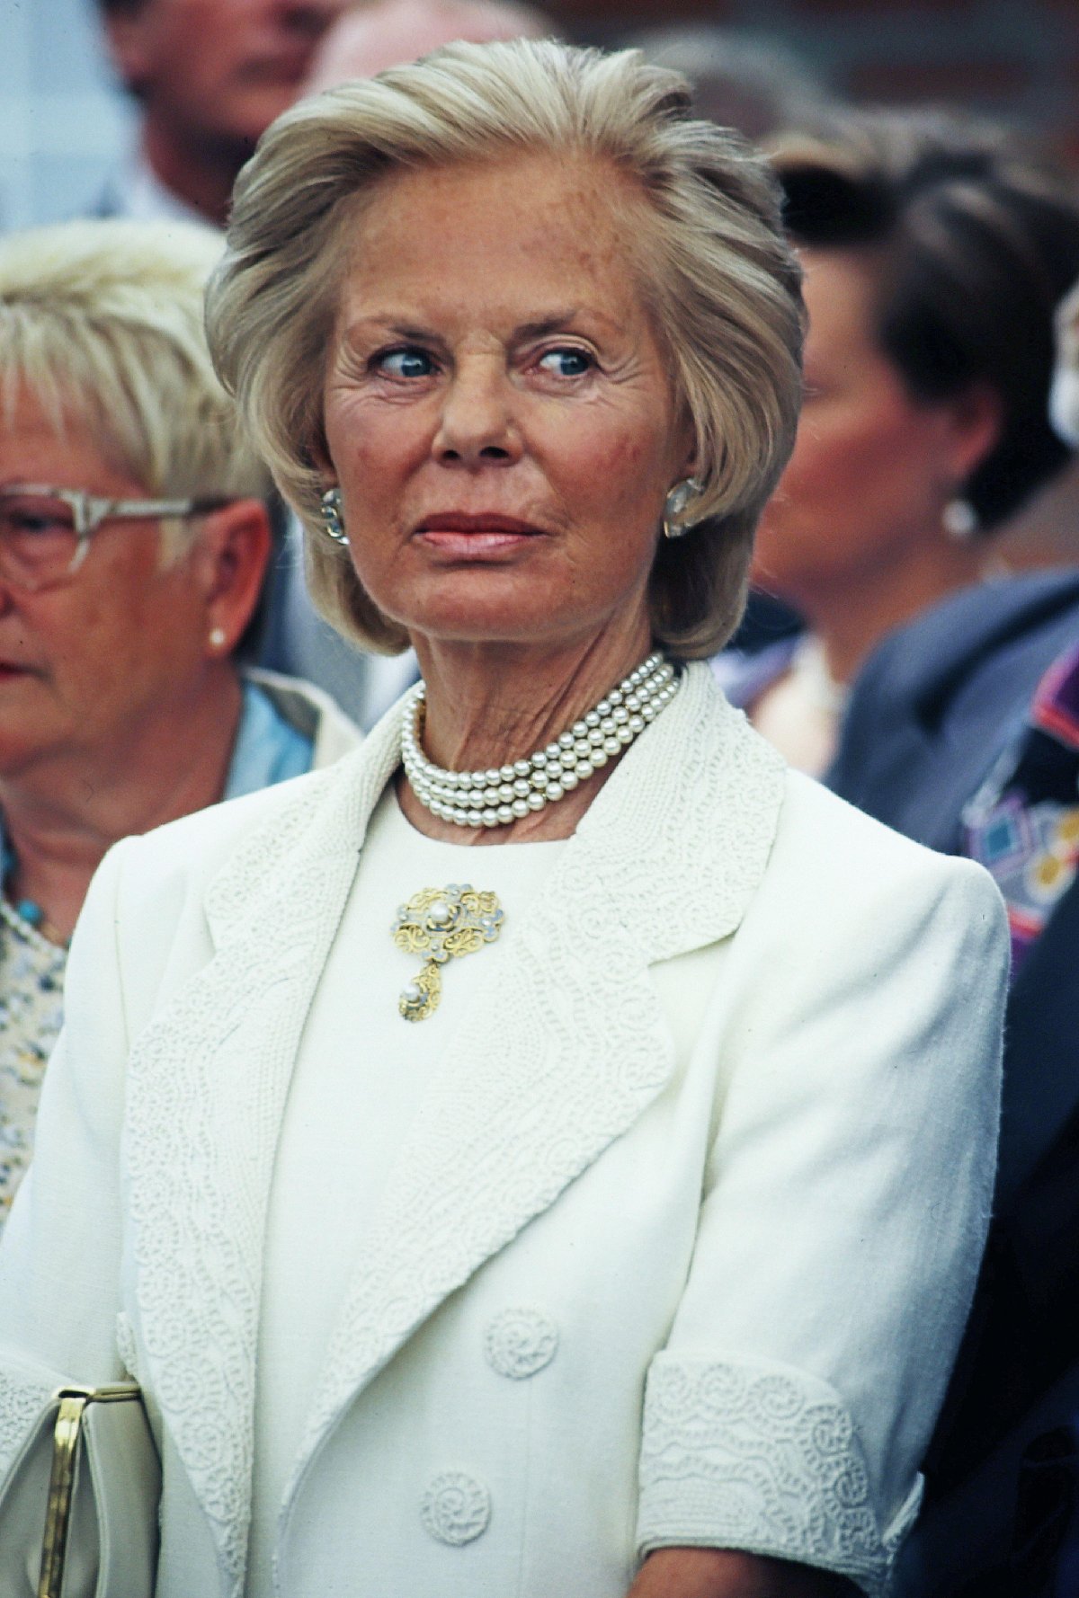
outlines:
{"label": "facial skin of the woman wearing glasses", "polygon": [[[86,428],[58,436],[30,395],[0,427],[0,486],[13,484],[147,497]],[[161,569],[157,521],[106,521],[61,586],[22,593],[0,578],[0,777],[58,754],[118,756],[192,694],[205,617],[192,562]]]}

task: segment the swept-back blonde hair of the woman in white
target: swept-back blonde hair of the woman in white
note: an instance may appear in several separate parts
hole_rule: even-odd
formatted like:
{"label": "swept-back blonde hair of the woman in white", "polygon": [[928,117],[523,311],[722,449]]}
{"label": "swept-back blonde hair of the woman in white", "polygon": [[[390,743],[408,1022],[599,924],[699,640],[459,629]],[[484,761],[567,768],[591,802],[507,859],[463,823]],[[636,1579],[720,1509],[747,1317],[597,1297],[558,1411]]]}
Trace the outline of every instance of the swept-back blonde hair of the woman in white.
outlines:
{"label": "swept-back blonde hair of the woman in white", "polygon": [[408,638],[363,590],[321,521],[324,363],[363,197],[393,173],[548,152],[609,163],[639,189],[627,256],[692,420],[692,531],[660,539],[657,642],[713,654],[745,604],[758,516],[786,463],[801,400],[802,302],[778,187],[737,134],[692,113],[686,80],[639,51],[555,40],[449,45],[301,101],[237,182],[208,294],[209,345],[251,436],[307,531],[312,594],[345,638],[388,654]]}

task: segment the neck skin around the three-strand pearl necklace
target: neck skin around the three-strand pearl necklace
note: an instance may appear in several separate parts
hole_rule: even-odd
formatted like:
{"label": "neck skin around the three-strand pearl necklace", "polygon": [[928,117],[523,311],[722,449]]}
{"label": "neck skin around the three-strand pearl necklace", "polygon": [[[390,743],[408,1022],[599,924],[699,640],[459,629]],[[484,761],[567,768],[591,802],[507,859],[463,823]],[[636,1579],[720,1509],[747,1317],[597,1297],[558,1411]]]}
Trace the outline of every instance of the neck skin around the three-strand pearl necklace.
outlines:
{"label": "neck skin around the three-strand pearl necklace", "polygon": [[[644,660],[646,620],[548,647],[459,644],[416,636],[427,684],[424,753],[448,770],[486,770],[528,759],[555,741]],[[569,837],[617,757],[556,804],[507,826],[464,828],[433,817],[396,778],[401,810],[427,837],[449,844],[550,842]]]}

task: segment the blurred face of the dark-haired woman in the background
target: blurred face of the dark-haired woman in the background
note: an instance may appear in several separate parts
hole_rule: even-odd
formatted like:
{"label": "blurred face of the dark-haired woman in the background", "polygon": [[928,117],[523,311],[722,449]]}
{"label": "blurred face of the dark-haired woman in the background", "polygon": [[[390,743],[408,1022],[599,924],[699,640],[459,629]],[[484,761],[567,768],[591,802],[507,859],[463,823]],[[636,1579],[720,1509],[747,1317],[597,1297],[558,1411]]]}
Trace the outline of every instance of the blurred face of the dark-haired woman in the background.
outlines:
{"label": "blurred face of the dark-haired woman in the background", "polygon": [[806,403],[756,540],[753,578],[812,610],[863,574],[889,574],[943,539],[967,470],[964,415],[918,404],[873,332],[876,267],[858,251],[802,251]]}

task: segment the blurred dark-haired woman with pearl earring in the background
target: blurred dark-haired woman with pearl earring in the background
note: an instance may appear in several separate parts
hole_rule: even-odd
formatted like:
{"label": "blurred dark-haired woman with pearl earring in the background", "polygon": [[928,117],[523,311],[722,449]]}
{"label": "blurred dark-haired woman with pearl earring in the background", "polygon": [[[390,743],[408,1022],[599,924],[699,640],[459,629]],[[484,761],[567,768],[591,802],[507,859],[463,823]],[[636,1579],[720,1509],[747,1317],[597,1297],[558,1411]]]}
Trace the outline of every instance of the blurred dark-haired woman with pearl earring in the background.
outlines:
{"label": "blurred dark-haired woman with pearl earring in the background", "polygon": [[993,532],[1068,460],[1047,401],[1079,208],[1013,133],[943,113],[849,113],[782,141],[775,168],[806,268],[806,406],[755,580],[809,630],[718,670],[818,775],[866,655],[991,572]]}

